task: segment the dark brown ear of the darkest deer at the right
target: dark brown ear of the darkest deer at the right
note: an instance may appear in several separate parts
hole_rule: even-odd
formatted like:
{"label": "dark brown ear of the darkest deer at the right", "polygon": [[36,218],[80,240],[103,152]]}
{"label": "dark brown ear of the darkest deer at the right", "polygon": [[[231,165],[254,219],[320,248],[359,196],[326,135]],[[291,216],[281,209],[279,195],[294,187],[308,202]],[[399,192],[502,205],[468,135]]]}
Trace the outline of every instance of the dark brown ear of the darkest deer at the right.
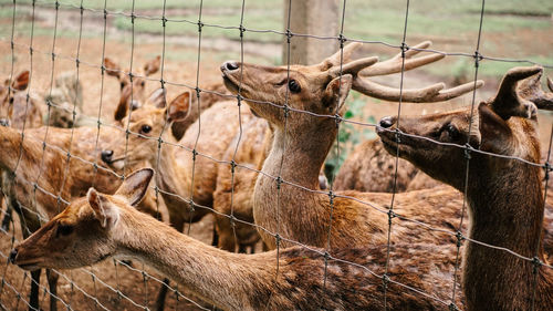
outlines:
{"label": "dark brown ear of the darkest deer at the right", "polygon": [[478,106],[480,149],[503,153],[511,144],[512,132],[507,122],[486,103]]}

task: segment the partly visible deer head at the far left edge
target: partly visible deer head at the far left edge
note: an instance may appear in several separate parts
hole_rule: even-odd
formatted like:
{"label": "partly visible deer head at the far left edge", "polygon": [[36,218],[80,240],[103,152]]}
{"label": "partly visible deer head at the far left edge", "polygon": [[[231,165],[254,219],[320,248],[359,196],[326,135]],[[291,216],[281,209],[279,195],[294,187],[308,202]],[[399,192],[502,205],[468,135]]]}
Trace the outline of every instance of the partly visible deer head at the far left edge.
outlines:
{"label": "partly visible deer head at the far left edge", "polygon": [[0,85],[0,125],[10,126],[13,116],[14,105],[25,105],[27,97],[20,92],[29,85],[29,71],[22,71],[13,79],[7,79],[3,85]]}

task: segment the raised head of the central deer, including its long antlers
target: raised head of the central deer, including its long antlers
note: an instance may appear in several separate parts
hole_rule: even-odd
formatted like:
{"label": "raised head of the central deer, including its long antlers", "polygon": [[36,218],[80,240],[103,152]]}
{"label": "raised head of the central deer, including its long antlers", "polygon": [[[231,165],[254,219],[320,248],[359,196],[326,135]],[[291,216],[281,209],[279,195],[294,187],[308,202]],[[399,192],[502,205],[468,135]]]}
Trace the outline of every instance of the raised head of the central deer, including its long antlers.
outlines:
{"label": "raised head of the central deer, including its long antlers", "polygon": [[[444,58],[441,54],[432,54],[410,59],[429,45],[430,42],[424,42],[405,52],[404,69],[415,69]],[[371,82],[367,77],[400,72],[401,54],[385,62],[378,62],[375,56],[351,61],[352,53],[358,46],[361,43],[351,43],[320,64],[290,65],[290,69],[228,61],[221,65],[223,82],[231,92],[240,93],[255,114],[267,118],[276,128],[283,127],[286,113],[289,128],[295,128],[292,131],[302,131],[302,126],[313,123],[332,125],[334,121],[328,117],[313,118],[312,115],[296,112],[319,116],[341,114],[349,89],[387,101],[399,101],[401,95],[404,102],[438,102],[472,91],[474,85],[482,85],[482,82],[467,83],[442,90],[445,85],[438,83],[400,92],[398,89]],[[284,104],[289,107],[288,112],[283,108]]]}

